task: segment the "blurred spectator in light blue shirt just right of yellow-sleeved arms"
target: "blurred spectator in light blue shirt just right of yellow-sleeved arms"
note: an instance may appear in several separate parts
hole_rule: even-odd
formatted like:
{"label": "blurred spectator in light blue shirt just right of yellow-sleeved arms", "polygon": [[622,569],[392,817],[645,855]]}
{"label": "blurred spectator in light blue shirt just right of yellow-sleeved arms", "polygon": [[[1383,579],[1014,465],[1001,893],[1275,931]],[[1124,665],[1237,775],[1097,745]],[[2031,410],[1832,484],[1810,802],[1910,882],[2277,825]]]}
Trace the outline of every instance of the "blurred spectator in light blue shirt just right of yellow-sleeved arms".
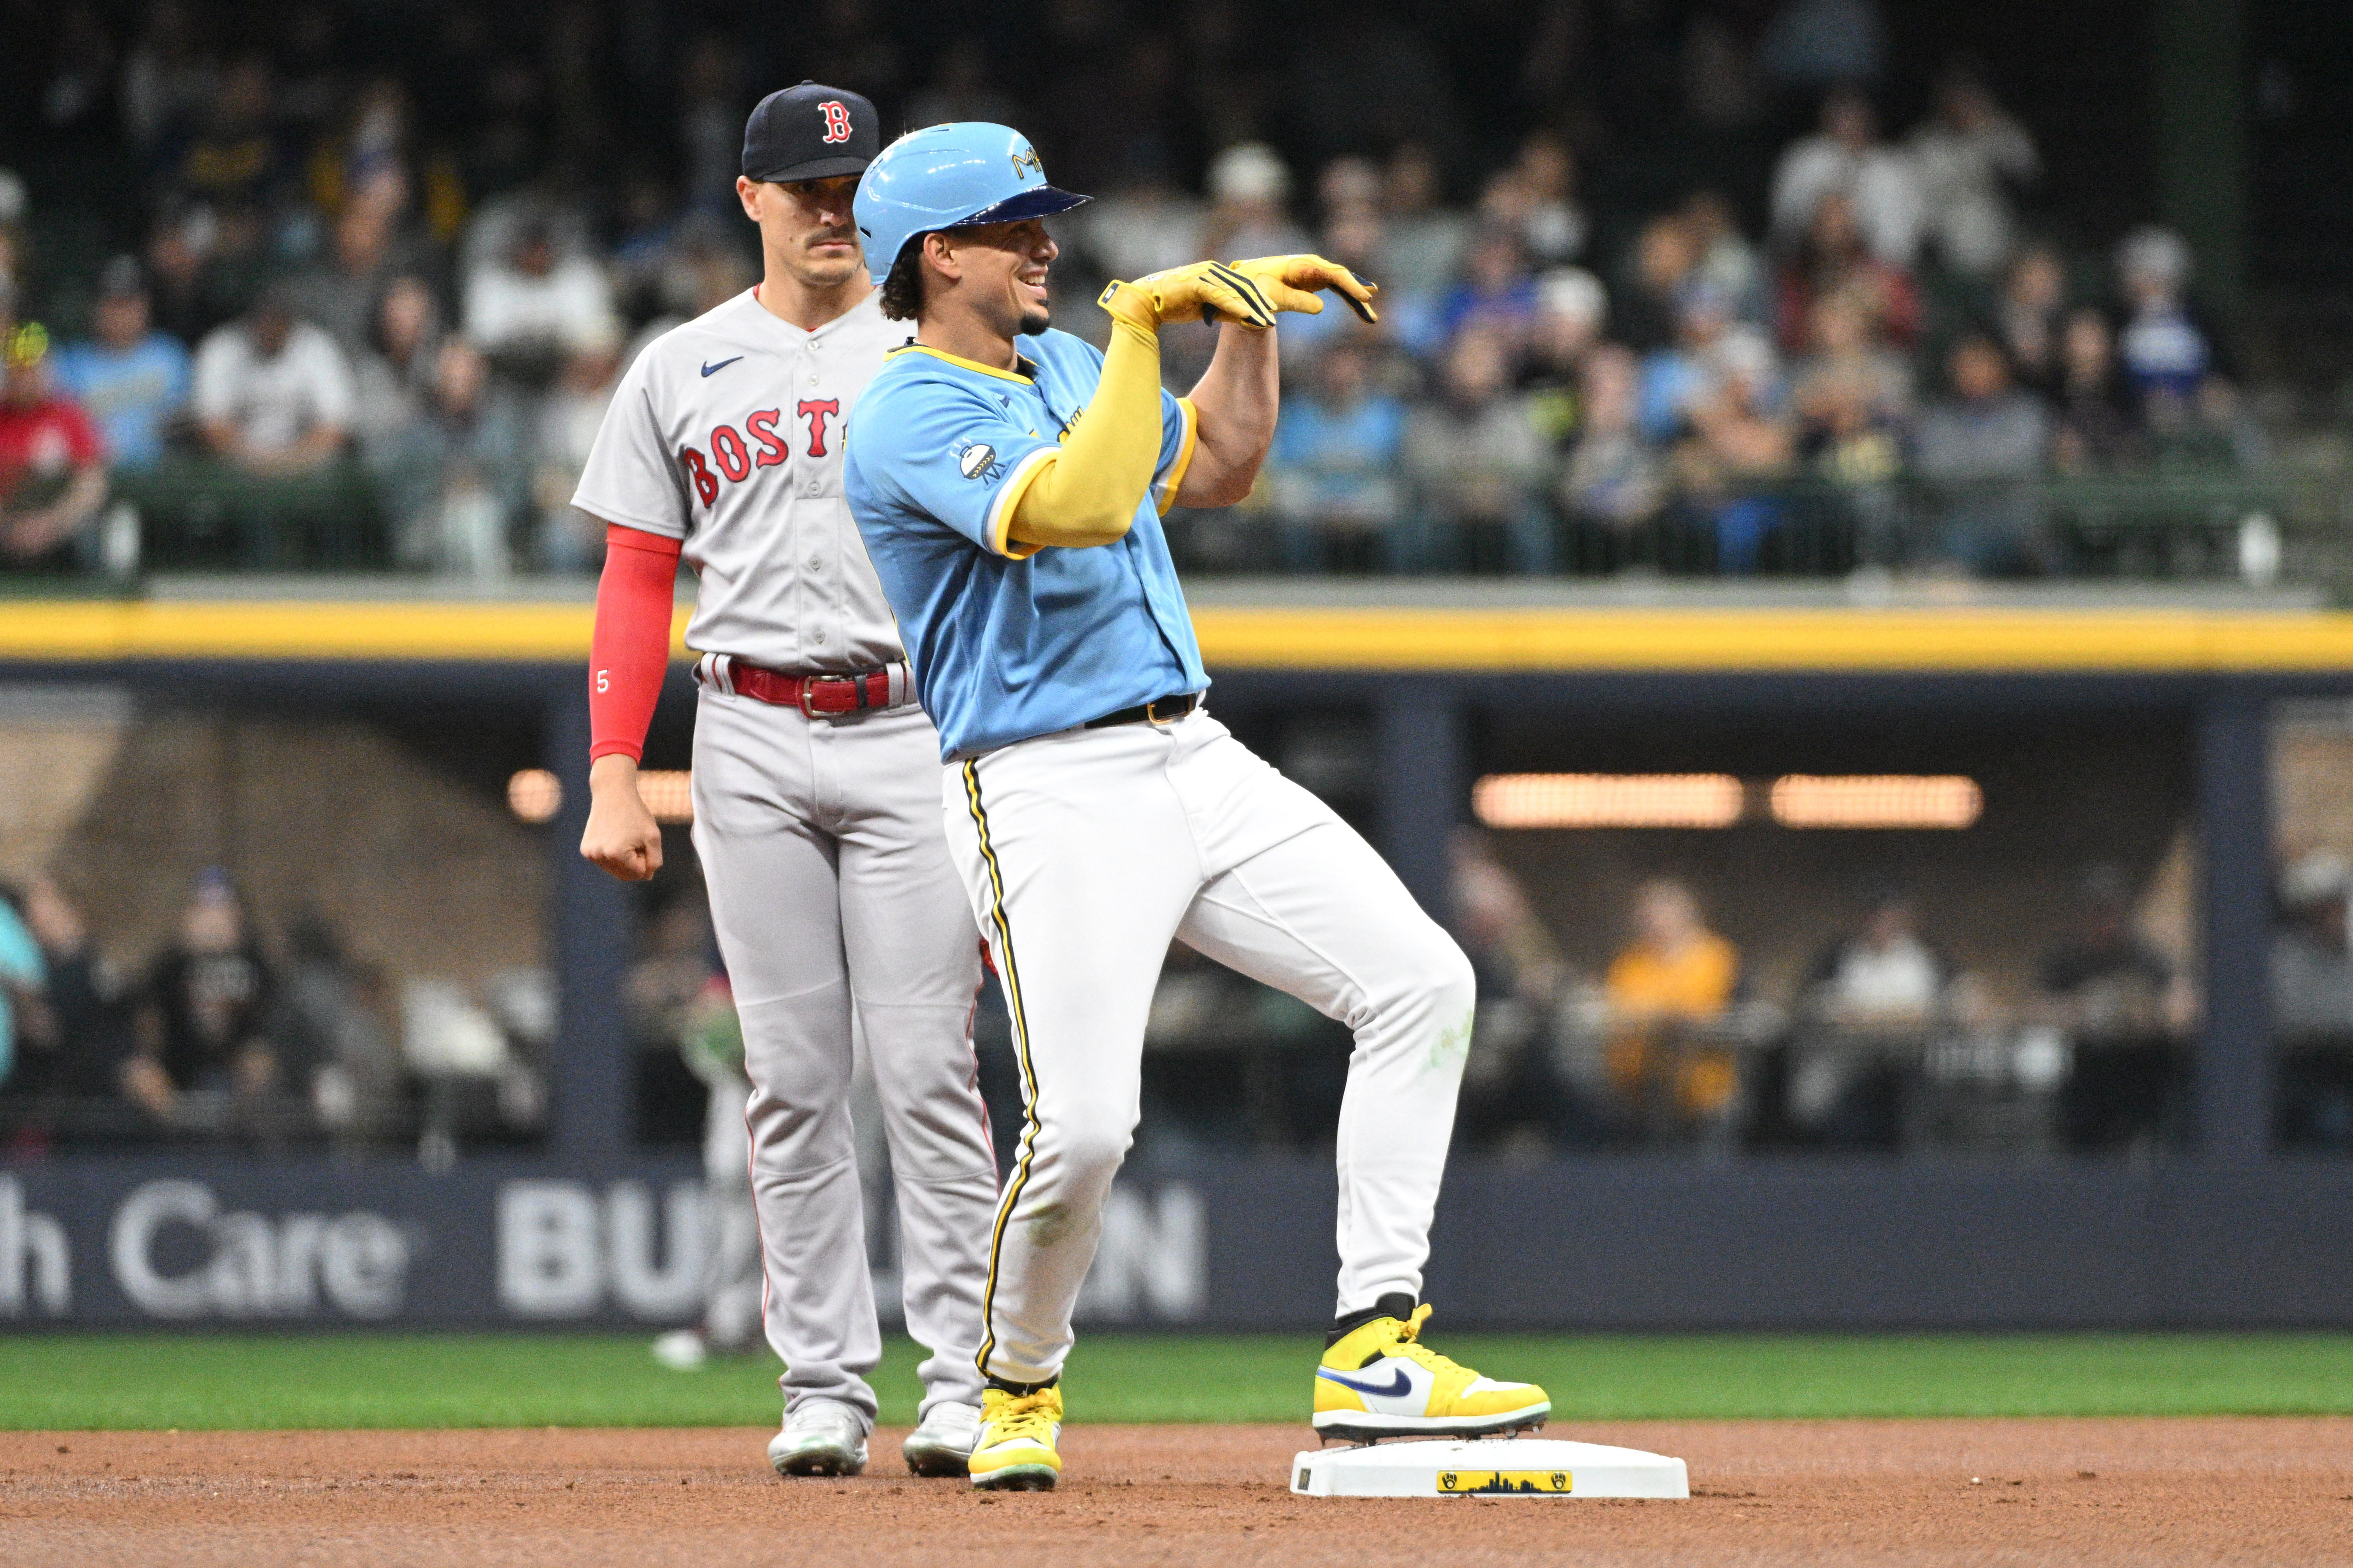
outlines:
{"label": "blurred spectator in light blue shirt just right of yellow-sleeved arms", "polygon": [[1402,516],[1398,452],[1405,405],[1379,391],[1372,351],[1339,339],[1315,360],[1308,396],[1282,400],[1266,476],[1282,560],[1294,572],[1391,558]]}

